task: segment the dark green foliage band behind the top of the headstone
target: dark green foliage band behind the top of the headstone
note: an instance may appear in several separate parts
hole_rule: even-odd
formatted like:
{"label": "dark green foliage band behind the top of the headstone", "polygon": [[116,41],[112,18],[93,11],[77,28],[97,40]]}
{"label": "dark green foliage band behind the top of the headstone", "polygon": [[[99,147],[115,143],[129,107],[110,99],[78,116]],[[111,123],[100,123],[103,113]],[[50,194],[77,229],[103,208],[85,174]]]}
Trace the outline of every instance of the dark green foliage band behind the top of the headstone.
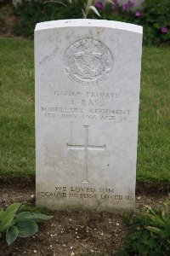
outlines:
{"label": "dark green foliage band behind the top of the headstone", "polygon": [[[14,9],[18,16],[18,22],[14,26],[17,35],[32,37],[33,31],[38,22],[47,20],[64,20],[82,18],[82,9],[86,1],[67,0],[60,3],[45,3],[43,0],[23,0]],[[133,23],[144,27],[144,44],[159,45],[170,44],[170,1],[169,0],[145,0],[140,10],[141,15],[135,16],[135,11],[131,8],[122,10],[120,3],[116,4],[116,9],[111,9],[111,3],[107,3],[104,9],[99,10],[99,18],[92,11],[89,12],[89,19],[118,20]],[[161,27],[167,27],[167,33],[161,32]]]}

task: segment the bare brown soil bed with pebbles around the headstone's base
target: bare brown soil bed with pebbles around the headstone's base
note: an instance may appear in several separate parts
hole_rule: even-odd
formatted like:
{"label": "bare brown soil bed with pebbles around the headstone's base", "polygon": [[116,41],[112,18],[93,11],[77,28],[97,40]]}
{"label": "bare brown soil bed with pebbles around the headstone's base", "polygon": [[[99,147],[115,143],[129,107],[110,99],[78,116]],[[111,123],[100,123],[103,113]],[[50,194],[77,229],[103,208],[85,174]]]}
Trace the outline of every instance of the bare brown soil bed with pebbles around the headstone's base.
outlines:
{"label": "bare brown soil bed with pebbles around the headstone's base", "polygon": [[[167,199],[167,193],[140,192],[136,195],[136,211],[144,206],[161,205]],[[12,202],[24,202],[35,206],[35,185],[24,183],[0,183],[0,207],[7,207]],[[0,256],[73,256],[73,255],[115,255],[116,249],[122,247],[127,229],[119,214],[108,212],[53,212],[54,218],[39,224],[36,236],[19,238],[8,245],[0,241]]]}

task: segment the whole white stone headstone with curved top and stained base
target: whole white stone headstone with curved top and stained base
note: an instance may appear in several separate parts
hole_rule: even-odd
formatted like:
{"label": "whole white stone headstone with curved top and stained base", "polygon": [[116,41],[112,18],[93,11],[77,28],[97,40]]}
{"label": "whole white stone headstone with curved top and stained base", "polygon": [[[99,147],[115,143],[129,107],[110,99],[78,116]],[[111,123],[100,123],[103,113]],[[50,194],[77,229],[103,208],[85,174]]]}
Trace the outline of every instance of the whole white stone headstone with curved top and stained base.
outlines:
{"label": "whole white stone headstone with curved top and stained base", "polygon": [[37,24],[37,206],[133,210],[142,27]]}

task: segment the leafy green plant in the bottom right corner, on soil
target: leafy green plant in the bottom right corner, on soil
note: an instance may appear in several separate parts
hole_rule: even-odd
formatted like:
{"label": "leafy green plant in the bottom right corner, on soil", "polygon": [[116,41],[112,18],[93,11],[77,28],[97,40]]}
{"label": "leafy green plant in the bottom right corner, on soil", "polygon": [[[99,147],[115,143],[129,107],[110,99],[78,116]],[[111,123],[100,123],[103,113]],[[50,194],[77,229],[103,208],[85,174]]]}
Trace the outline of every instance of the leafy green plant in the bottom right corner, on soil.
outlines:
{"label": "leafy green plant in the bottom right corner, on soil", "polygon": [[116,256],[170,255],[170,204],[167,202],[164,205],[160,210],[148,207],[148,212],[133,219],[125,219],[130,236]]}

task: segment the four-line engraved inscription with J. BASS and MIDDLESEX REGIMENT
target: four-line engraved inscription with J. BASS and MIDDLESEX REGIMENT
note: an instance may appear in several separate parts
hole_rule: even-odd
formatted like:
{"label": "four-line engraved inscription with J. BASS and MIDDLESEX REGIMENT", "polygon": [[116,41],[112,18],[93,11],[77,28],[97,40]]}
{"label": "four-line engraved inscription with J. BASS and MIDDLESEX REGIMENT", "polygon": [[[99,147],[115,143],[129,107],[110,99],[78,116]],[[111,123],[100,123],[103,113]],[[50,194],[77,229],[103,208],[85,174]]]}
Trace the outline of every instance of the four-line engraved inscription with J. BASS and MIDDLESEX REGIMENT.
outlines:
{"label": "four-line engraved inscription with J. BASS and MIDDLESEX REGIMENT", "polygon": [[[45,119],[128,122],[132,116],[129,96],[119,91],[55,90],[54,106],[42,106]],[[61,103],[62,102],[62,103]],[[119,107],[117,107],[119,106]],[[120,108],[123,106],[124,108]]]}

